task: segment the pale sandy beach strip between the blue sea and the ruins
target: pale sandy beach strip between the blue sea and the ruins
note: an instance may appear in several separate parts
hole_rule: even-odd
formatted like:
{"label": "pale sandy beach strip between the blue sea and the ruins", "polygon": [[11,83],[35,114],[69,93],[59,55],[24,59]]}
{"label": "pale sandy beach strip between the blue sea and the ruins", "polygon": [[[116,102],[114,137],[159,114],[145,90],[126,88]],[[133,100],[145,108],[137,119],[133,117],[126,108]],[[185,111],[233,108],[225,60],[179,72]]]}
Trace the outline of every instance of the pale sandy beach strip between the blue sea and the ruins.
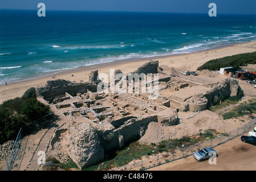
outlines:
{"label": "pale sandy beach strip between the blue sea and the ruins", "polygon": [[49,75],[42,78],[31,78],[30,80],[7,83],[7,86],[1,85],[0,103],[15,97],[21,97],[26,92],[26,90],[31,87],[44,86],[48,80],[60,78],[76,82],[80,82],[81,80],[87,81],[88,73],[96,69],[99,71],[99,73],[107,74],[109,74],[110,69],[120,69],[123,73],[129,73],[134,71],[140,65],[152,59],[159,60],[160,67],[161,65],[168,65],[169,67],[173,67],[177,71],[196,71],[196,69],[200,67],[200,65],[206,63],[209,60],[254,51],[256,51],[256,42],[248,42],[242,44],[233,44],[232,46],[228,47],[186,53],[181,55],[150,57],[140,60],[120,60],[113,61],[111,63],[92,65],[90,67],[71,69],[68,71],[55,73],[55,78],[52,78],[52,75]]}

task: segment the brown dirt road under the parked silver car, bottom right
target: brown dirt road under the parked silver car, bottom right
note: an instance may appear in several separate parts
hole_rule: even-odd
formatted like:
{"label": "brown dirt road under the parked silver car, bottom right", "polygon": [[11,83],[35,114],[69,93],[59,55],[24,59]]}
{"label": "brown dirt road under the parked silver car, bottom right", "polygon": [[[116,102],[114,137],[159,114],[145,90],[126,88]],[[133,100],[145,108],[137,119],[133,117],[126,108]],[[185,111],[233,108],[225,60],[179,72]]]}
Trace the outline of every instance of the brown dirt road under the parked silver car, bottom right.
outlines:
{"label": "brown dirt road under the parked silver car, bottom right", "polygon": [[153,171],[251,171],[256,170],[256,146],[243,143],[237,137],[221,146],[217,151],[216,164],[209,164],[208,160],[197,162],[194,157],[188,156],[167,164],[162,164],[150,170]]}

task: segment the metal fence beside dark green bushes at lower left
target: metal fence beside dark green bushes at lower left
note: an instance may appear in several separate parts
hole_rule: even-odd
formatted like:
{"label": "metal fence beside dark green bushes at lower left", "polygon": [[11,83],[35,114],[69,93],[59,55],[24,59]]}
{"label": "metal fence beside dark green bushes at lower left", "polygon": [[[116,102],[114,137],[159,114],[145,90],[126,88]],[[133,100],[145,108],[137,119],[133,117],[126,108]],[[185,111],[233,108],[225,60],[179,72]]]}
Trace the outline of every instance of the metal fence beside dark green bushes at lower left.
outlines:
{"label": "metal fence beside dark green bushes at lower left", "polygon": [[[40,129],[43,125],[46,124],[47,121],[49,121],[49,118],[52,119],[52,116],[54,116],[54,112],[44,115],[44,117],[36,119],[35,121],[31,122],[29,125],[22,126],[19,130],[19,133],[17,135],[17,138],[14,142],[13,148],[11,149],[10,155],[7,159],[7,162],[5,164],[5,167],[3,168],[3,171],[11,171],[11,168],[13,167],[13,164],[15,160],[17,159],[18,151],[21,147],[22,137],[28,133],[30,133],[31,128],[36,130]],[[48,118],[48,119],[47,119]],[[50,121],[51,121],[50,119]]]}

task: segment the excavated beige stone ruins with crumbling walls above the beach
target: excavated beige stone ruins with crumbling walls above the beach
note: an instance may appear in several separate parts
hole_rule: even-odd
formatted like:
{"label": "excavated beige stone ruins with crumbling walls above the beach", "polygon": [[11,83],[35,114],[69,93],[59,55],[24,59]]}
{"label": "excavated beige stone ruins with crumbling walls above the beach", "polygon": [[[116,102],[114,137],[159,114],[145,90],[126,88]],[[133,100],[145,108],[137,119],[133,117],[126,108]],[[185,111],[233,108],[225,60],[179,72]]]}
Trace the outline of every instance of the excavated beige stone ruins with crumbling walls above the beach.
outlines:
{"label": "excavated beige stone ruins with crumbling walls above the beach", "polygon": [[159,73],[156,100],[148,100],[148,94],[98,93],[98,71],[92,71],[86,82],[52,80],[36,88],[38,97],[71,123],[70,128],[55,132],[49,150],[55,150],[56,141],[66,135],[64,152],[79,168],[88,167],[104,160],[106,151],[143,137],[149,123],[177,125],[177,112],[208,109],[224,97],[237,95],[240,89],[232,78],[206,85],[186,82],[173,68],[159,67],[159,61],[153,60],[133,73]]}

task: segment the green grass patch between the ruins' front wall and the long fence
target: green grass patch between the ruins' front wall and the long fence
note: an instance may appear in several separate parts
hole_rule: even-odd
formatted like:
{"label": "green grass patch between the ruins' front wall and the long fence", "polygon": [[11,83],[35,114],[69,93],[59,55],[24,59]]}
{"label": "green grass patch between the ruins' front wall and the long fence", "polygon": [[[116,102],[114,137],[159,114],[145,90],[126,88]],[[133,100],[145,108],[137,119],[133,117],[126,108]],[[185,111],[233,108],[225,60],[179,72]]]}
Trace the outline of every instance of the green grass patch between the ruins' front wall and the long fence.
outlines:
{"label": "green grass patch between the ruins' front wall and the long fence", "polygon": [[[180,148],[183,144],[184,147],[193,146],[198,142],[203,142],[217,137],[220,133],[217,133],[216,130],[205,130],[200,133],[200,137],[182,137],[181,139],[170,139],[163,140],[157,144],[151,143],[140,144],[139,142],[133,142],[129,144],[128,147],[116,151],[115,158],[105,161],[103,163],[84,168],[84,171],[95,171],[95,170],[108,170],[116,167],[121,167],[132,160],[141,159],[142,156],[150,157],[153,154],[159,154],[161,152],[172,152]],[[178,148],[177,148],[178,147]]]}

